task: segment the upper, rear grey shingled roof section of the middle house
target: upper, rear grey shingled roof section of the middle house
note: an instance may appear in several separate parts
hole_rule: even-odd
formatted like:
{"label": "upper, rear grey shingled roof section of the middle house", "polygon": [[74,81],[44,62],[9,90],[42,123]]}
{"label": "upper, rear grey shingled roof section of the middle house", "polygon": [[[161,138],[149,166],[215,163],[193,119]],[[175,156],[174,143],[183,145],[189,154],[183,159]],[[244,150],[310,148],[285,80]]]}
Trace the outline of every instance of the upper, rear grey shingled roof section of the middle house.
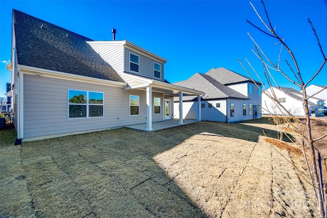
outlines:
{"label": "upper, rear grey shingled roof section of the middle house", "polygon": [[[233,84],[233,83],[241,83],[241,82],[252,82],[251,78],[245,77],[243,75],[238,74],[237,72],[233,72],[224,67],[212,68],[211,70],[205,73],[208,76],[211,76],[218,82],[223,85]],[[258,85],[261,85],[261,82],[255,81]]]}

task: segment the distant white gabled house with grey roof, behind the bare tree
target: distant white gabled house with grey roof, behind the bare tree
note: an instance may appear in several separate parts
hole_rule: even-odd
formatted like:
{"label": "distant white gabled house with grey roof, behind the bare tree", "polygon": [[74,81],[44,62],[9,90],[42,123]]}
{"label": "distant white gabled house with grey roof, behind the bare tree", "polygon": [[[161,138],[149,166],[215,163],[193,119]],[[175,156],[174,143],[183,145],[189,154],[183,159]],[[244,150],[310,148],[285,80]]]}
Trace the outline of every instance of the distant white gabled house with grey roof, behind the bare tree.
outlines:
{"label": "distant white gabled house with grey roof, behind the bare tree", "polygon": [[[272,93],[272,89],[276,95],[279,103],[285,107],[294,116],[305,116],[305,110],[303,107],[302,93],[293,89],[285,87],[270,87],[266,90],[268,93]],[[321,109],[323,109],[324,100],[318,98],[310,98],[308,101],[309,114],[314,111],[316,115],[323,115]],[[275,102],[272,101],[265,93],[262,94],[262,108],[263,114],[282,114],[285,111],[279,109]]]}

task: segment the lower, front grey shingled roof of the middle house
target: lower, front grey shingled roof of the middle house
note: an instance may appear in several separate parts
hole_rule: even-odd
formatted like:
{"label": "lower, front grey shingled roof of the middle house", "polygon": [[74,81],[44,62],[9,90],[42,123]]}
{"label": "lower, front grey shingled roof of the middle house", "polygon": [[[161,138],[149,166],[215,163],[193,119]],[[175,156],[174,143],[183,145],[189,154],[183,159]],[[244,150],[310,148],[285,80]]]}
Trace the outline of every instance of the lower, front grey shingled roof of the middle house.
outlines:
{"label": "lower, front grey shingled roof of the middle house", "polygon": [[[184,80],[174,84],[205,92],[205,94],[202,96],[202,100],[225,98],[248,99],[247,96],[219,83],[214,78],[205,74],[197,73],[188,80]],[[185,96],[183,97],[183,100],[190,101],[196,100],[196,98],[194,98],[194,96]]]}

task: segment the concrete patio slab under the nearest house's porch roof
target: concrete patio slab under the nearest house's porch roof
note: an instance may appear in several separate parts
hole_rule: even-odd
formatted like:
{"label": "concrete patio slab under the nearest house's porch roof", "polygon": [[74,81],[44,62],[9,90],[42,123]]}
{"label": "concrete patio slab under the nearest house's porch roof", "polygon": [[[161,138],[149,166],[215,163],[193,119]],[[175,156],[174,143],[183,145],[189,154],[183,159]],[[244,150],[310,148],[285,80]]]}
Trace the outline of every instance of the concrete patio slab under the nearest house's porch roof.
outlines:
{"label": "concrete patio slab under the nearest house's porch roof", "polygon": [[[179,119],[166,119],[166,120],[160,121],[160,122],[153,122],[151,131],[181,126],[181,125],[185,125],[185,124],[192,124],[192,123],[196,123],[196,122],[199,122],[199,120],[183,119],[183,123],[179,124]],[[129,126],[125,126],[125,127],[130,128],[130,129],[135,129],[135,130],[148,131],[146,123],[129,125]]]}

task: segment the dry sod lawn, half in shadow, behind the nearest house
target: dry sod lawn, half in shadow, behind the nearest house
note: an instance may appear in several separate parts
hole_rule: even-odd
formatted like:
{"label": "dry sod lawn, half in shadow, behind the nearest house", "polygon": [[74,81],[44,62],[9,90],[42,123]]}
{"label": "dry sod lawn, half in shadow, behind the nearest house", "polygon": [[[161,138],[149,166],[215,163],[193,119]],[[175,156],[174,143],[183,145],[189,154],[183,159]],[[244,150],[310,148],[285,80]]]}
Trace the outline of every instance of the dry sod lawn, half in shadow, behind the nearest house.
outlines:
{"label": "dry sod lawn, half in shadow, behind the nearest house", "polygon": [[[24,142],[0,132],[0,217],[317,217],[267,118]],[[258,140],[259,138],[259,140]]]}

